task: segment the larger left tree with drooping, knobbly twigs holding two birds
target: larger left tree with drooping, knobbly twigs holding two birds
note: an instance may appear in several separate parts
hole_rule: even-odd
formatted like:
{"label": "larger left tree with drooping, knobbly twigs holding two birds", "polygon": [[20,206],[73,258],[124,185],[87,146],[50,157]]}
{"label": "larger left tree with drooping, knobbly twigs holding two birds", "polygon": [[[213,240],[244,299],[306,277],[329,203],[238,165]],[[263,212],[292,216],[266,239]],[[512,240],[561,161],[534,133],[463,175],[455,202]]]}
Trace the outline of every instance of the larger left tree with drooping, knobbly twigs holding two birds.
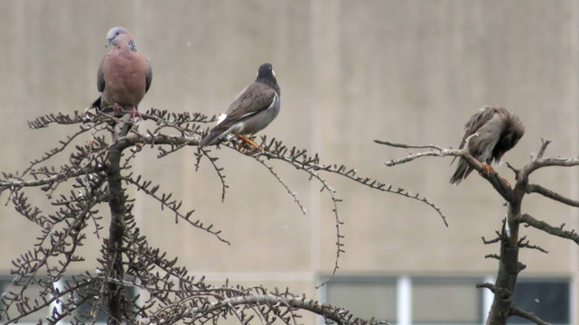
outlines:
{"label": "larger left tree with drooping, knobbly twigs holding two birds", "polygon": [[[278,320],[290,324],[296,323],[300,311],[305,311],[340,324],[380,323],[360,320],[340,307],[298,296],[289,289],[245,288],[229,282],[211,286],[203,278],[188,275],[188,270],[179,266],[170,254],[150,246],[135,222],[133,207],[138,202],[127,195],[129,188],[141,190],[148,200],[158,201],[163,209],[172,211],[176,222],[201,229],[225,245],[229,245],[229,241],[213,225],[191,218],[193,211],[183,210],[182,201],[173,199],[171,190],[160,190],[166,184],[153,184],[146,180],[146,175],[131,172],[131,162],[142,150],[157,150],[158,156],[163,157],[197,146],[203,134],[202,125],[213,122],[215,117],[150,109],[142,118],[154,121],[154,128],[140,132],[138,125],[131,123],[130,114],[112,116],[102,111],[75,112],[71,116],[51,114],[29,122],[33,129],[67,125],[74,131],[23,171],[2,173],[0,194],[7,192],[7,202],[42,231],[33,247],[14,261],[13,284],[0,300],[4,322],[17,322],[36,311],[50,309],[50,315],[42,316],[39,322],[94,323],[104,312],[110,324],[203,324],[228,317],[243,324],[253,318],[262,323]],[[418,194],[411,195],[402,188],[361,177],[344,165],[322,164],[317,154],[287,147],[279,140],[262,137],[260,145],[264,151],[252,152],[227,141],[221,147],[252,157],[258,166],[275,177],[302,211],[297,196],[268,161],[290,164],[304,173],[304,180],[320,184],[333,202],[336,225],[333,274],[338,269],[344,245],[339,214],[341,199],[324,174],[335,174],[360,186],[418,200],[434,209],[446,223],[440,209]],[[67,163],[51,164],[67,154]],[[218,157],[203,148],[197,150],[195,159],[197,165],[204,159],[211,163],[219,175],[222,198],[225,198],[228,184]],[[35,188],[43,191],[53,211],[33,206],[28,193]],[[513,227],[516,225],[511,229]],[[98,269],[70,274],[70,265],[87,258],[78,255],[78,248],[88,237],[102,242]],[[40,289],[33,292],[33,287]]]}

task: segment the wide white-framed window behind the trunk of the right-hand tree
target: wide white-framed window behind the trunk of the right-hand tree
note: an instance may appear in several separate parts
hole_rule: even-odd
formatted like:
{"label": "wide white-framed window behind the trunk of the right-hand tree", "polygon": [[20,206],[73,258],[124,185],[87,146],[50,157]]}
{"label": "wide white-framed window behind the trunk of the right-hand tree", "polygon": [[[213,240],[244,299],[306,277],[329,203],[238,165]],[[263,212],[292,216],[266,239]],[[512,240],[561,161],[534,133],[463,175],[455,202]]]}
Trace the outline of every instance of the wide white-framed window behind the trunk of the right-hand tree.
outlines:
{"label": "wide white-framed window behind the trunk of the right-hand tree", "polygon": [[[326,285],[323,302],[343,307],[354,317],[388,320],[397,325],[484,324],[492,293],[476,289],[483,277],[339,277]],[[542,320],[571,322],[571,289],[568,279],[518,280],[515,304]],[[511,317],[509,324],[531,324]]]}

